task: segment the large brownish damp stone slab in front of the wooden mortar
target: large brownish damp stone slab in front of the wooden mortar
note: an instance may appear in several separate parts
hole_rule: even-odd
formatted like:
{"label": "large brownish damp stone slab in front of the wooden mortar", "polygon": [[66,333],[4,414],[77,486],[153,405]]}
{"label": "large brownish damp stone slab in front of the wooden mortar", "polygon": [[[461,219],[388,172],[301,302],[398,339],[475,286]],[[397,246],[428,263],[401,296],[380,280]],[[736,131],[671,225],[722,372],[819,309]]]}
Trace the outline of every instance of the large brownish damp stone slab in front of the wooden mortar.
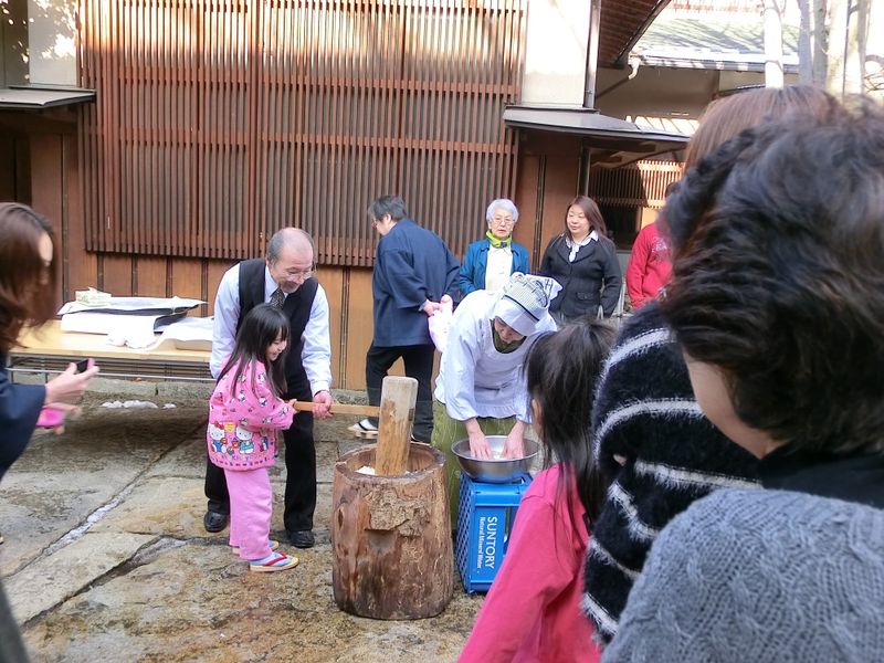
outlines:
{"label": "large brownish damp stone slab in front of the wooden mortar", "polygon": [[301,565],[250,573],[219,545],[161,550],[71,599],[29,629],[40,661],[454,661],[481,600],[461,592],[438,618],[377,621],[332,597],[330,547]]}

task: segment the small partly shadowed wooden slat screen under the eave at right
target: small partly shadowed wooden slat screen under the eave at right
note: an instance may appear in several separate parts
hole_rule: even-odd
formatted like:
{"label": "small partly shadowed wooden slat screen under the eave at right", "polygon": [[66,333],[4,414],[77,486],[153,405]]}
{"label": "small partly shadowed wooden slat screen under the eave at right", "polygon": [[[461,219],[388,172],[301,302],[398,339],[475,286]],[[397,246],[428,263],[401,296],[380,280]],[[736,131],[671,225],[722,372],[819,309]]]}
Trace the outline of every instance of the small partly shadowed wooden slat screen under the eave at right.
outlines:
{"label": "small partly shadowed wooden slat screen under the eave at right", "polygon": [[666,187],[681,179],[675,161],[636,161],[622,168],[597,168],[589,178],[590,194],[602,204],[662,208]]}

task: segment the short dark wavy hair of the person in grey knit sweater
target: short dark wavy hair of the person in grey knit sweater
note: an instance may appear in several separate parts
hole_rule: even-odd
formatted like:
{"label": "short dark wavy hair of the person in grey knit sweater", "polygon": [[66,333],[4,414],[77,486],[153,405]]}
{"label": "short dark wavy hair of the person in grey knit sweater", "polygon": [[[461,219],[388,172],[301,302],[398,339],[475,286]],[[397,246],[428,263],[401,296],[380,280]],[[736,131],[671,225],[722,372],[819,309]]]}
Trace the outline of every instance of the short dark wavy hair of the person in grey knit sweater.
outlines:
{"label": "short dark wavy hair of the person in grey knit sweater", "polygon": [[737,417],[792,450],[884,450],[884,113],[749,129],[666,207],[664,315]]}

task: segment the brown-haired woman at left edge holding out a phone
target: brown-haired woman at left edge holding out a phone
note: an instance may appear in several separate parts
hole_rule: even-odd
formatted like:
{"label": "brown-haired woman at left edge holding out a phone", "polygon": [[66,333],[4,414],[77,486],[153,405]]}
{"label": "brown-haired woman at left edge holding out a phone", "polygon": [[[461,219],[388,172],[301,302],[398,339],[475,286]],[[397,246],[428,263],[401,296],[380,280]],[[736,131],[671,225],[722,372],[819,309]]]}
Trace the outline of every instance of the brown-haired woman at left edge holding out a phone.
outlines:
{"label": "brown-haired woman at left edge holding out a phone", "polygon": [[[98,372],[76,372],[71,364],[45,385],[17,385],[7,358],[25,327],[40,327],[55,315],[57,253],[49,222],[25,204],[0,203],[0,478],[24,452],[44,407],[67,413]],[[55,425],[56,432],[63,424]],[[28,661],[28,654],[0,587],[0,660]]]}

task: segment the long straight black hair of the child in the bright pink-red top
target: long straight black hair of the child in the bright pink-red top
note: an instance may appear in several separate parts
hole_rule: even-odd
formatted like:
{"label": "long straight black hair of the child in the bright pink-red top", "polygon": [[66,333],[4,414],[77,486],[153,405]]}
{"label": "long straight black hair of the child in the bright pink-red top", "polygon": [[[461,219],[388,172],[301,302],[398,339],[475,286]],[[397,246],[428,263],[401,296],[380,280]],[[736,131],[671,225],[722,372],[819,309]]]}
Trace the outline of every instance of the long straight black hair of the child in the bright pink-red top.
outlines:
{"label": "long straight black hair of the child in the bright pink-red top", "polygon": [[615,336],[608,323],[578,318],[539,338],[525,365],[528,394],[546,456],[555,456],[562,463],[560,485],[567,486],[573,473],[580,502],[590,519],[598,515],[606,488],[592,459],[590,415],[596,380]]}

